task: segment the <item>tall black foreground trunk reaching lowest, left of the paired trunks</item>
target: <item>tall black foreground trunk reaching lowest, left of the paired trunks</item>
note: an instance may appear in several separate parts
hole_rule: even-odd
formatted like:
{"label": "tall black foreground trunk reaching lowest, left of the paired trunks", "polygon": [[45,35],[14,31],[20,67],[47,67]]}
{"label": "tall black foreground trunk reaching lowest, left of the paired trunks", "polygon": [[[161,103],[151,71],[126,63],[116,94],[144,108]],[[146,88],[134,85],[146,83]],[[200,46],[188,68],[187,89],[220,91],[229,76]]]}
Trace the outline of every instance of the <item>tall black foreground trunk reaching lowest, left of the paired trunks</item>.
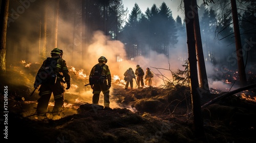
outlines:
{"label": "tall black foreground trunk reaching lowest, left of the paired trunks", "polygon": [[184,0],[186,16],[186,33],[189,62],[190,91],[194,115],[194,130],[197,137],[204,136],[203,120],[201,116],[201,101],[197,88],[199,88],[197,74],[196,42],[194,34],[194,18],[191,14],[191,1]]}

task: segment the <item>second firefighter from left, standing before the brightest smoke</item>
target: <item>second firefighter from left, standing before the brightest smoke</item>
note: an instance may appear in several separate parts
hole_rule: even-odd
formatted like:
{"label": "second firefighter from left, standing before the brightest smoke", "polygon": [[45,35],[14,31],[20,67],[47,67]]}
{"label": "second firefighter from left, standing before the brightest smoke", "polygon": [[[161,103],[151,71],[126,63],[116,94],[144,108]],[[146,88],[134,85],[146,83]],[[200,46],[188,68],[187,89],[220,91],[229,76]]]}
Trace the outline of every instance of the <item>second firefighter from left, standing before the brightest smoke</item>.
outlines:
{"label": "second firefighter from left, standing before the brightest smoke", "polygon": [[98,64],[96,64],[95,66],[93,66],[91,72],[90,72],[90,77],[89,80],[91,78],[91,80],[95,80],[95,78],[93,78],[94,74],[95,74],[95,69],[96,66],[100,66],[102,67],[102,71],[101,71],[101,79],[99,83],[95,82],[95,81],[90,81],[90,85],[91,88],[93,89],[93,104],[98,104],[99,103],[99,96],[100,96],[100,92],[103,93],[104,95],[104,109],[105,108],[110,108],[110,88],[111,88],[111,73],[110,73],[110,69],[109,66],[106,65],[106,63],[108,62],[108,60],[105,58],[105,56],[100,56],[100,58],[98,59]]}

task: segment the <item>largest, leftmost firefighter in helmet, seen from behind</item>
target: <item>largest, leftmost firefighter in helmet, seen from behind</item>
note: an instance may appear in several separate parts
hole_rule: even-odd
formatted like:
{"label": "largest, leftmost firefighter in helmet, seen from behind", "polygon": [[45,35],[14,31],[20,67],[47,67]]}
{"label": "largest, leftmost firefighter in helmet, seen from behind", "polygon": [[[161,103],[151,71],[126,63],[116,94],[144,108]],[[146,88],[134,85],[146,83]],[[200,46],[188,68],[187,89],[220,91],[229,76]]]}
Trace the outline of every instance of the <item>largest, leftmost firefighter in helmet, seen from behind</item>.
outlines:
{"label": "largest, leftmost firefighter in helmet, seen from behind", "polygon": [[[63,51],[61,49],[54,48],[51,51],[51,58],[48,58],[54,59],[54,61],[51,62],[50,66],[47,66],[47,63],[49,62],[47,62],[48,59],[45,60],[37,72],[36,80],[34,82],[34,88],[37,89],[39,87],[39,84],[41,84],[38,90],[40,97],[37,100],[38,104],[36,107],[36,113],[40,118],[46,117],[46,112],[48,110],[48,104],[52,93],[55,101],[52,113],[53,115],[60,115],[60,111],[64,103],[65,87],[63,84],[66,82],[66,90],[70,89],[69,70],[66,61],[62,59],[62,55]],[[53,83],[44,82],[46,78],[42,78],[46,73],[49,73],[49,70],[52,70],[52,72],[56,75],[56,80],[54,80]],[[65,81],[63,80],[63,78],[65,79]]]}

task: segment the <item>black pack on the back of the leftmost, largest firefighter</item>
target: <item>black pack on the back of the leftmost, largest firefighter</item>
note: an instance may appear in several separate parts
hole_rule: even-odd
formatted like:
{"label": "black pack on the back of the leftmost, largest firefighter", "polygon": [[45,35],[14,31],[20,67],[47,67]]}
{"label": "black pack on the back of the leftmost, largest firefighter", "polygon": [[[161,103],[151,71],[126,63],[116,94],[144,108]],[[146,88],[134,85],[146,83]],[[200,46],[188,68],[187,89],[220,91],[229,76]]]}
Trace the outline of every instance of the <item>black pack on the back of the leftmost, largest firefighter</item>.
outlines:
{"label": "black pack on the back of the leftmost, largest firefighter", "polygon": [[39,84],[51,84],[54,85],[57,80],[57,74],[55,69],[57,67],[57,60],[59,58],[50,58],[46,59],[44,65],[44,71],[41,71],[39,75],[36,75],[36,82]]}

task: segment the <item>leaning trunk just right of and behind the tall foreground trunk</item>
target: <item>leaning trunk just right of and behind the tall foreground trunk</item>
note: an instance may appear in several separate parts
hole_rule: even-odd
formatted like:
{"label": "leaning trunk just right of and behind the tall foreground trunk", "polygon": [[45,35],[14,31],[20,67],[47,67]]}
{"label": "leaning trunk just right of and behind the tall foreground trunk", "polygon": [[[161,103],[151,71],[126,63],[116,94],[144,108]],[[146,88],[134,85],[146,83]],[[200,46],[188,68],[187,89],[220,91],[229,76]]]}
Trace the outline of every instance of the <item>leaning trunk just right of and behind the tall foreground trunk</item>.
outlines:
{"label": "leaning trunk just right of and behind the tall foreground trunk", "polygon": [[202,89],[200,93],[209,93],[210,90],[209,90],[209,84],[208,84],[205,62],[204,62],[204,53],[203,53],[200,24],[199,24],[199,18],[198,18],[197,0],[192,1],[191,9],[193,10],[193,14],[194,14],[194,32],[195,32],[195,39],[196,39],[199,80],[200,80],[200,88]]}

